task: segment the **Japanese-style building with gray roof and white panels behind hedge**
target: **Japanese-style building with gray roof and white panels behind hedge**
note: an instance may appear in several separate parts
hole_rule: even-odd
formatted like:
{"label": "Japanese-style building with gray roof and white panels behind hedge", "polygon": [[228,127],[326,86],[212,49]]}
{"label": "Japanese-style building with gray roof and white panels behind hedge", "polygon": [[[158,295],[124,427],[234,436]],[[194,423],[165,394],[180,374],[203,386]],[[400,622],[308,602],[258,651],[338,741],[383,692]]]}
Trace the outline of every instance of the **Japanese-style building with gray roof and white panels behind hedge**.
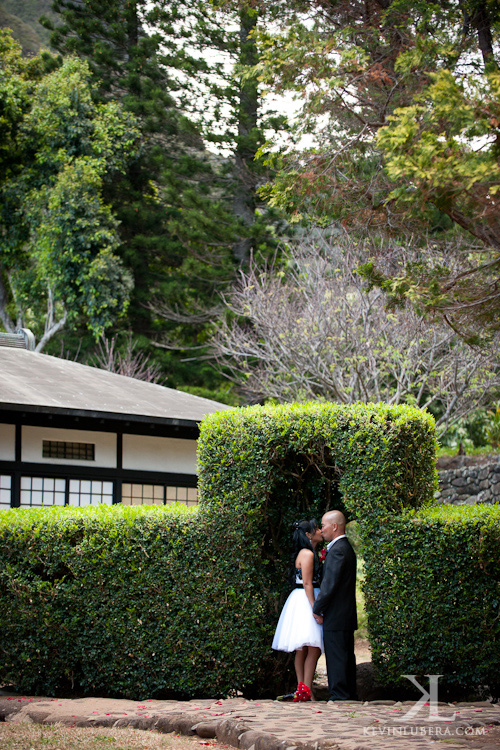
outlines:
{"label": "Japanese-style building with gray roof and white panels behind hedge", "polygon": [[206,414],[231,407],[0,334],[0,508],[195,504]]}

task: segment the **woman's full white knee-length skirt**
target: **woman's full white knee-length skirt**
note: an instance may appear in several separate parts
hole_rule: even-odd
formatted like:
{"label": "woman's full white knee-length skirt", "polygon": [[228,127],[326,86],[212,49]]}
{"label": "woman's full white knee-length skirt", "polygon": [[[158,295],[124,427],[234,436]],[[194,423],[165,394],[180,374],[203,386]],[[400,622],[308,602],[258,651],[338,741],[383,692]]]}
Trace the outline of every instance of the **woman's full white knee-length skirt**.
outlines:
{"label": "woman's full white knee-length skirt", "polygon": [[[319,589],[314,589],[314,596]],[[323,626],[313,617],[312,607],[303,588],[294,589],[285,602],[276,626],[272,648],[275,651],[299,651],[317,646],[324,651]]]}

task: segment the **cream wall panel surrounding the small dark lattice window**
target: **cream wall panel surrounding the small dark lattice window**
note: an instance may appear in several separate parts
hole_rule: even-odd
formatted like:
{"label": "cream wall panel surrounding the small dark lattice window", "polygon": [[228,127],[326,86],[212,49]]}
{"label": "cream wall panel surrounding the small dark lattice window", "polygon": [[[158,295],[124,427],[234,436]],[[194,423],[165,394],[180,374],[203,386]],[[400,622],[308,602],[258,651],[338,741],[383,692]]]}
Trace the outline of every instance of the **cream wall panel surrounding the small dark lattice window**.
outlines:
{"label": "cream wall panel surrounding the small dark lattice window", "polygon": [[[43,458],[44,440],[63,440],[68,443],[94,443],[95,461],[68,458]],[[61,430],[56,427],[23,426],[22,460],[37,464],[60,466],[105,466],[116,467],[116,435],[112,432],[90,430]]]}

